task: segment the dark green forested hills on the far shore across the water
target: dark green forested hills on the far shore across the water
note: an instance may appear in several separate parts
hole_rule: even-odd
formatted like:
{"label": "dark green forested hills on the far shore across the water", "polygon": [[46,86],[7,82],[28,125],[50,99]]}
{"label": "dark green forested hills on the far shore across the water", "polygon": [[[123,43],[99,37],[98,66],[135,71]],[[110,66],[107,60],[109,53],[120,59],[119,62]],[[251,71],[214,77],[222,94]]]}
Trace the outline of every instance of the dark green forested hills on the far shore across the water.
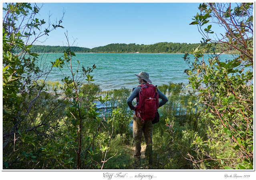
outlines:
{"label": "dark green forested hills on the far shore across the water", "polygon": [[[77,46],[71,47],[73,52],[98,52],[98,53],[122,53],[122,52],[140,52],[140,53],[185,53],[191,52],[196,49],[200,44],[187,44],[187,43],[172,43],[172,42],[159,42],[156,44],[108,44],[107,46],[100,46],[97,48],[81,48]],[[67,50],[67,46],[39,46],[34,45],[30,48],[32,52],[54,52],[62,53]],[[214,48],[212,48],[214,50]]]}

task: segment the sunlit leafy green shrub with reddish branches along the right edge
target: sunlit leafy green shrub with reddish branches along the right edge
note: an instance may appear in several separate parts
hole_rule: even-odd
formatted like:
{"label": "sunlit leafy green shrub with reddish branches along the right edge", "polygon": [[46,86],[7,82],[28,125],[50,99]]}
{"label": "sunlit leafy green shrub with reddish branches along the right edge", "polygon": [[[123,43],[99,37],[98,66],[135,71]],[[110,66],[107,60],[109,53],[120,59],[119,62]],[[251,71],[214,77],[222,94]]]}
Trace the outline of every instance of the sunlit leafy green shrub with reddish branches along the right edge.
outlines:
{"label": "sunlit leafy green shrub with reddish branches along the right edge", "polygon": [[[200,155],[189,155],[189,159],[196,168],[252,169],[253,3],[204,3],[199,9],[191,24],[197,24],[203,35],[202,49],[191,52],[193,62],[185,54],[189,64],[185,72],[190,76],[189,86],[200,92],[199,102],[205,105],[205,117],[212,125],[208,140],[195,141]],[[212,23],[226,32],[213,36]],[[210,58],[205,53],[213,46],[233,59],[225,62],[220,54]]]}

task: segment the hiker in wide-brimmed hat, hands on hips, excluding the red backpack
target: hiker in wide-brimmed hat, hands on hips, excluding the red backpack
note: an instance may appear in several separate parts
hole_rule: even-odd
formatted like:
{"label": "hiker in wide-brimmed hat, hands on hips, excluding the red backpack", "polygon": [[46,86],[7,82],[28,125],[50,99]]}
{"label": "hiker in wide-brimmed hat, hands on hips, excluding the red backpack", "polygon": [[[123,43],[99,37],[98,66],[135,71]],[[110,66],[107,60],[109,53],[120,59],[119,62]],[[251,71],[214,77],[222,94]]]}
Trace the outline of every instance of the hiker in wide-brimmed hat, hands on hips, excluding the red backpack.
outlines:
{"label": "hiker in wide-brimmed hat, hands on hips, excluding the red backpack", "polygon": [[[151,163],[152,155],[153,155],[153,152],[152,152],[153,124],[152,124],[152,120],[148,120],[148,119],[144,120],[144,118],[141,119],[141,116],[140,116],[141,114],[138,112],[138,107],[139,107],[139,103],[142,103],[142,102],[139,102],[139,99],[141,100],[141,98],[142,98],[142,96],[141,96],[141,98],[139,98],[139,93],[142,91],[141,88],[145,87],[145,86],[147,87],[147,86],[153,86],[153,85],[149,84],[149,83],[151,83],[151,80],[149,80],[149,74],[147,72],[141,71],[139,74],[135,74],[135,75],[138,76],[140,85],[137,86],[136,88],[133,88],[133,92],[132,92],[131,96],[126,101],[128,106],[130,107],[130,109],[135,111],[133,114],[133,139],[134,139],[134,144],[135,144],[135,155],[133,157],[135,158],[135,160],[138,160],[138,161],[140,160],[141,136],[142,136],[142,132],[143,132],[144,139],[147,144],[147,147],[145,150],[145,156],[149,160],[149,163]],[[155,86],[153,86],[153,87],[155,88]],[[152,98],[155,98],[155,100],[156,100],[156,106],[157,106],[156,110],[157,110],[157,108],[163,106],[168,101],[168,98],[157,88],[155,88],[155,91],[156,91],[154,93],[155,97],[152,97]],[[158,104],[158,100],[159,100],[158,97],[161,98],[161,101],[159,102],[159,104]],[[133,104],[132,104],[132,101],[134,98],[136,98],[136,106],[133,106]],[[151,98],[149,98],[149,99],[151,99]],[[143,101],[143,99],[142,99],[142,101]],[[149,110],[149,112],[150,111],[153,111],[153,110]],[[147,115],[145,115],[145,116],[147,116]]]}

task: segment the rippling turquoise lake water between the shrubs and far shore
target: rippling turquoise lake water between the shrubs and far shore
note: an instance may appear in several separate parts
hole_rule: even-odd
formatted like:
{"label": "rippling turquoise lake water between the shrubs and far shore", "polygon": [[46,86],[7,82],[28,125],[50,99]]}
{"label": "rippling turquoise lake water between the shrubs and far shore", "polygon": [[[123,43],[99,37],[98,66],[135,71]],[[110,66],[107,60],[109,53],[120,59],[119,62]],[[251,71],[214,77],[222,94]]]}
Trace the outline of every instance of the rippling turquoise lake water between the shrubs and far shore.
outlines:
{"label": "rippling turquoise lake water between the shrubs and far shore", "polygon": [[[62,56],[62,53],[40,54],[42,62],[46,63],[41,66],[51,66],[50,61]],[[99,84],[102,90],[120,89],[125,87],[132,89],[138,84],[135,74],[146,71],[149,73],[149,79],[154,85],[181,83],[188,84],[188,76],[184,70],[188,65],[183,60],[184,54],[140,54],[140,53],[77,53],[72,59],[73,72],[77,70],[77,61],[82,66],[92,67],[96,65],[97,69],[93,70],[93,83]],[[230,55],[223,54],[221,59],[230,59]],[[191,59],[193,59],[191,57]],[[67,67],[63,67],[62,72],[71,76]],[[64,76],[59,70],[55,70],[48,75],[46,80],[60,81]],[[86,82],[86,81],[84,81]]]}

